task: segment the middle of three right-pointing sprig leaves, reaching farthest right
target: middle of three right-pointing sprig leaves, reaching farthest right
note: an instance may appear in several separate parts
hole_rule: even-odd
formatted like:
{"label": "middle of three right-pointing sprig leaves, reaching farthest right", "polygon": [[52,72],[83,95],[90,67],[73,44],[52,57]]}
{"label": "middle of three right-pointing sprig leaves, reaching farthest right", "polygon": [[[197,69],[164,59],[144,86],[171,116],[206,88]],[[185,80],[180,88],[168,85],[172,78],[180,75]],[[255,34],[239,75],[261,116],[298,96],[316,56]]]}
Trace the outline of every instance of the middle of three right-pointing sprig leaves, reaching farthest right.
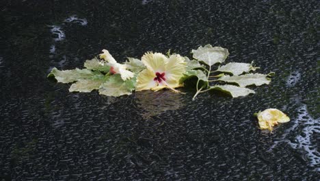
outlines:
{"label": "middle of three right-pointing sprig leaves, reaching farthest right", "polygon": [[269,84],[271,80],[267,77],[268,75],[260,74],[260,73],[249,73],[245,75],[224,75],[222,77],[219,77],[217,80],[222,80],[224,82],[232,82],[236,83],[241,87],[250,86],[250,85],[256,85],[261,86],[263,84]]}

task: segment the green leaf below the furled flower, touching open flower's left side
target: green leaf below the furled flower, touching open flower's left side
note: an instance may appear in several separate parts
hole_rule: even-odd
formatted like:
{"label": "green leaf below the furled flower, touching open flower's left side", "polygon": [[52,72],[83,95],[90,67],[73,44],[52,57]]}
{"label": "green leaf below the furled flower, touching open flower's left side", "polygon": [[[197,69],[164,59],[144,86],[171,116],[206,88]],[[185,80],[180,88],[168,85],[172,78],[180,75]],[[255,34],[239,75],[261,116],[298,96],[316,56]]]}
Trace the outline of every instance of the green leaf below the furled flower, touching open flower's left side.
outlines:
{"label": "green leaf below the furled flower, touching open flower's left side", "polygon": [[120,74],[112,75],[107,81],[101,84],[99,93],[101,95],[118,97],[120,95],[131,95],[132,90],[135,90],[136,77],[130,80],[122,80]]}

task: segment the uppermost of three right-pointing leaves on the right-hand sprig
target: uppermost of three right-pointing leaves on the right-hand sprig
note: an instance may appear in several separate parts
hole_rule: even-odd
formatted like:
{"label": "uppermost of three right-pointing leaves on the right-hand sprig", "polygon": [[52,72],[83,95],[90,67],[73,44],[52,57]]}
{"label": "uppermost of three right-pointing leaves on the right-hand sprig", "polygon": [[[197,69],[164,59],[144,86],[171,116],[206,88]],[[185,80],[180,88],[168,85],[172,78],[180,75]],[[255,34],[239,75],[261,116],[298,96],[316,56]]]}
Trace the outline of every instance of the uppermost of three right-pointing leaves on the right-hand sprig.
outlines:
{"label": "uppermost of three right-pointing leaves on the right-hand sprig", "polygon": [[258,67],[253,67],[252,64],[231,62],[219,67],[216,71],[240,75],[243,72],[248,73],[250,71],[255,71],[256,69],[258,69]]}

